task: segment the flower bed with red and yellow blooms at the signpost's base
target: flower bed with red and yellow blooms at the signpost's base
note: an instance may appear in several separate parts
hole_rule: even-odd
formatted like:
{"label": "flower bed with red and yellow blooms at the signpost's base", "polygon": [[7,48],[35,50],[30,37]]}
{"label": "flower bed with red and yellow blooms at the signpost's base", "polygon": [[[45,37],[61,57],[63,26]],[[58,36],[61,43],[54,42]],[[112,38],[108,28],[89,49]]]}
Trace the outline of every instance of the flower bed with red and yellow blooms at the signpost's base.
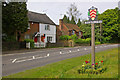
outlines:
{"label": "flower bed with red and yellow blooms at the signpost's base", "polygon": [[103,66],[103,61],[99,63],[92,64],[90,61],[85,61],[81,67],[81,69],[78,70],[79,74],[101,74],[106,71],[106,67]]}

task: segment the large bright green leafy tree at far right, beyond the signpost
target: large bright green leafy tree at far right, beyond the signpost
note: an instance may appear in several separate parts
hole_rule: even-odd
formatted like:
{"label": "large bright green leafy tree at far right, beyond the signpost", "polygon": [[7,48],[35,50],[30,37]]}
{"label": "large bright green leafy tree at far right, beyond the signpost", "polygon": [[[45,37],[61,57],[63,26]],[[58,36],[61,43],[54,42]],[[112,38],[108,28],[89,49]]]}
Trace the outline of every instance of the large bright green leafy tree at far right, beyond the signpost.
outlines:
{"label": "large bright green leafy tree at far right, beyond the signpost", "polygon": [[106,10],[102,14],[98,15],[98,19],[103,21],[103,40],[106,42],[117,42],[119,28],[118,8]]}

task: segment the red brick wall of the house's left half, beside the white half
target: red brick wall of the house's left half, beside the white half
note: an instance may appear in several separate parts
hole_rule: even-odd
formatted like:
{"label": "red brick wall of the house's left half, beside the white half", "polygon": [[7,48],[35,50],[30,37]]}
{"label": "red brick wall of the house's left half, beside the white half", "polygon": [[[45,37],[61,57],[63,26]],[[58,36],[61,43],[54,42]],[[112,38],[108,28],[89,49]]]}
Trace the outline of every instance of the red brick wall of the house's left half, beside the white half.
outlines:
{"label": "red brick wall of the house's left half, beside the white half", "polygon": [[23,41],[25,38],[25,35],[29,35],[30,39],[32,39],[32,36],[35,32],[39,32],[39,23],[29,22],[30,23],[30,29],[28,29],[24,34],[21,34],[20,41]]}

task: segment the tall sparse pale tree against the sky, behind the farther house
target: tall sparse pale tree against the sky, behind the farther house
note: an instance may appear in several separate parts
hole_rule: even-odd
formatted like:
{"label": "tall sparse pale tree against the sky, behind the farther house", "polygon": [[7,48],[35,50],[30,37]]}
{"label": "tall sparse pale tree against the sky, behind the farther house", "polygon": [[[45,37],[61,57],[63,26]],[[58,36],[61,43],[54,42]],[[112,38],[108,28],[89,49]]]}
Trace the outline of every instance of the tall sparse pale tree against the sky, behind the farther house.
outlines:
{"label": "tall sparse pale tree against the sky, behind the farther house", "polygon": [[69,18],[74,17],[74,21],[77,22],[79,16],[81,15],[80,11],[78,10],[77,6],[75,3],[71,4],[70,7],[68,8],[68,11],[66,12],[69,15]]}

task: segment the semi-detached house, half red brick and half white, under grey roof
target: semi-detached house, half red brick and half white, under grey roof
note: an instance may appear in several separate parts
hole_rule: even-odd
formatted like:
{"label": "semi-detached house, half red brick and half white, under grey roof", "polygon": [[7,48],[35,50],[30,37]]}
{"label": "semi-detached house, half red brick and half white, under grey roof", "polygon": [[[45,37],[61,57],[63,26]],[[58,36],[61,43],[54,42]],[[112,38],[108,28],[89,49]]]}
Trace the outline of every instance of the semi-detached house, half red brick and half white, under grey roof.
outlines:
{"label": "semi-detached house, half red brick and half white, under grey roof", "polygon": [[46,15],[28,11],[28,29],[20,41],[33,39],[35,43],[56,43],[56,24]]}

